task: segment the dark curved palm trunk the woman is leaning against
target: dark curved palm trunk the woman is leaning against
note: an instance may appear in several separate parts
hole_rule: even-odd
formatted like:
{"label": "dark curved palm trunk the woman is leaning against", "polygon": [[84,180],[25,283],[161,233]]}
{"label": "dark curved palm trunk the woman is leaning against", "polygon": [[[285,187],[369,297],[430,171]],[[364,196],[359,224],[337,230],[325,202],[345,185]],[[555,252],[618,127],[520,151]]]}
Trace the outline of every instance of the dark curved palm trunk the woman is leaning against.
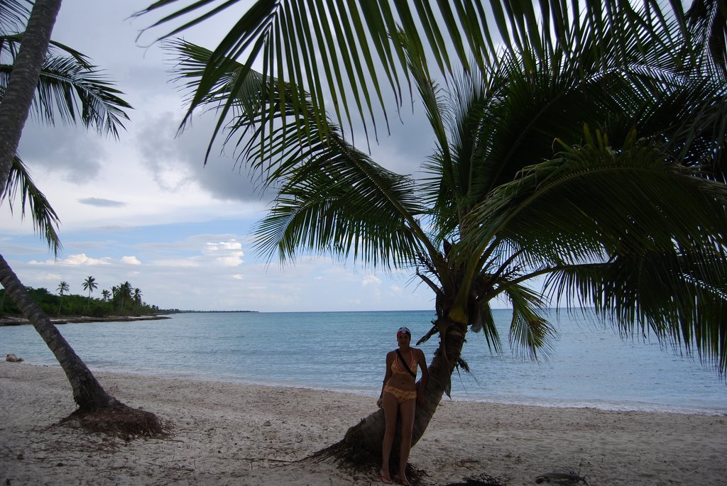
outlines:
{"label": "dark curved palm trunk the woman is leaning against", "polygon": [[[437,320],[435,323],[440,332],[439,347],[434,353],[432,363],[429,367],[429,380],[425,390],[426,407],[417,405],[417,413],[414,416],[414,432],[411,437],[411,445],[416,444],[422,438],[429,425],[435,410],[442,400],[445,391],[449,391],[451,375],[454,367],[462,353],[462,346],[465,344],[465,333],[467,326]],[[321,455],[332,455],[342,461],[349,461],[357,465],[377,464],[381,461],[381,445],[384,437],[385,419],[383,410],[371,413],[348,429],[345,437],[340,442],[321,451]],[[390,469],[396,470],[398,464],[399,427],[397,427],[393,449],[391,451],[392,464]]]}

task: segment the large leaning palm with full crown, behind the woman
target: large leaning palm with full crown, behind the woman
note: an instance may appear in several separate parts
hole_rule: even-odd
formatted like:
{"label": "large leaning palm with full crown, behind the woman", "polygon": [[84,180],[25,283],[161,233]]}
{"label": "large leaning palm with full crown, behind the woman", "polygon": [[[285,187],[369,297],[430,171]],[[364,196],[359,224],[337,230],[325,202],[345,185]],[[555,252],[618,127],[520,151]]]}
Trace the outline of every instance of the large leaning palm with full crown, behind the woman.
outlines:
{"label": "large leaning palm with full crown, behind the woman", "polygon": [[[392,33],[436,142],[421,180],[372,161],[330,119],[316,128],[318,107],[292,102],[299,86],[246,65],[229,61],[198,99],[234,100],[227,140],[278,190],[257,226],[260,251],[409,268],[433,291],[436,318],[420,342],[438,336],[439,346],[414,443],[466,365],[467,332],[502,350],[494,299],[513,309],[510,344],[534,358],[555,332],[553,297],[727,370],[727,187],[707,171],[725,150],[707,127],[723,121],[704,109],[726,100],[725,85],[675,57],[688,39],[672,23],[659,43],[627,23],[608,25],[613,35],[576,27],[561,49],[503,50],[486,76],[462,73],[447,89],[416,44]],[[195,90],[216,54],[172,46]],[[376,461],[383,426],[379,410],[329,453]]]}

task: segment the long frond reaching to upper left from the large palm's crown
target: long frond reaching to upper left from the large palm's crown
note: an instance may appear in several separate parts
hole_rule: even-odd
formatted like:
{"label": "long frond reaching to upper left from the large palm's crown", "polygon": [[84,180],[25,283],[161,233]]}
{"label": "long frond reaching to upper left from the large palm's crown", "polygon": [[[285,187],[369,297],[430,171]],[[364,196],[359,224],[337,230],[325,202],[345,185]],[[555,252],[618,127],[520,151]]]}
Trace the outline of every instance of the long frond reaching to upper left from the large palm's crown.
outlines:
{"label": "long frond reaching to upper left from the large palm's crown", "polygon": [[[211,54],[183,41],[169,43],[181,55],[178,79],[194,82]],[[214,108],[241,65],[230,65],[230,73],[218,80],[205,104]],[[417,217],[424,209],[408,177],[387,171],[346,142],[334,123],[327,137],[315,123],[312,105],[305,110],[289,101],[297,90],[267,93],[268,84],[251,72],[236,92],[236,117],[228,126],[227,140],[236,153],[260,174],[263,186],[276,184],[278,197],[270,214],[257,227],[257,248],[263,254],[278,254],[281,260],[296,249],[361,258],[371,264],[414,264],[417,254],[432,250]],[[271,119],[257,105],[272,103]],[[267,113],[267,110],[265,110]],[[268,131],[268,137],[260,137]]]}

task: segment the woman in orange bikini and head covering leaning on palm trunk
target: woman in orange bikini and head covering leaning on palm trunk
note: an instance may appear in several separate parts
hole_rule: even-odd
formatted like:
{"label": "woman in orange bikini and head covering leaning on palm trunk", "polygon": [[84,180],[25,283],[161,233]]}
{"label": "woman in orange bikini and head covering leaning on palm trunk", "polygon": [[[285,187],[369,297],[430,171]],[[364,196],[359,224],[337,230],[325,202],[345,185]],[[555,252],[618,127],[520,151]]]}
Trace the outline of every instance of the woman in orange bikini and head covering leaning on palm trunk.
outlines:
{"label": "woman in orange bikini and head covering leaning on palm trunk", "polygon": [[[379,475],[382,482],[391,484],[389,474],[389,456],[394,442],[396,429],[396,416],[401,414],[401,445],[399,450],[399,474],[394,476],[402,485],[409,485],[406,479],[406,461],[409,460],[411,450],[411,431],[414,429],[414,412],[417,402],[420,407],[425,406],[424,390],[427,386],[427,360],[421,349],[409,347],[411,344],[411,331],[409,328],[399,328],[396,331],[398,349],[386,355],[386,376],[378,400],[379,407],[384,409],[386,418],[386,431],[382,444],[382,466]],[[409,369],[407,369],[409,368]],[[422,382],[419,384],[417,394],[417,368],[422,369]]]}

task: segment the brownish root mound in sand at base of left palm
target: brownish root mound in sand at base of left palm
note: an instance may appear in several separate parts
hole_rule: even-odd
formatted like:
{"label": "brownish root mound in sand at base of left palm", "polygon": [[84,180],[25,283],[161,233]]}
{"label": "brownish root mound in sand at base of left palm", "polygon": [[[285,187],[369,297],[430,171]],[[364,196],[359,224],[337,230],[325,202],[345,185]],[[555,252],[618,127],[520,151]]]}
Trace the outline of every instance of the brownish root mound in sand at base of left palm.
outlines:
{"label": "brownish root mound in sand at base of left palm", "polygon": [[76,410],[60,421],[60,424],[78,426],[87,432],[106,434],[123,440],[169,437],[169,426],[165,426],[156,415],[120,402],[96,410]]}

